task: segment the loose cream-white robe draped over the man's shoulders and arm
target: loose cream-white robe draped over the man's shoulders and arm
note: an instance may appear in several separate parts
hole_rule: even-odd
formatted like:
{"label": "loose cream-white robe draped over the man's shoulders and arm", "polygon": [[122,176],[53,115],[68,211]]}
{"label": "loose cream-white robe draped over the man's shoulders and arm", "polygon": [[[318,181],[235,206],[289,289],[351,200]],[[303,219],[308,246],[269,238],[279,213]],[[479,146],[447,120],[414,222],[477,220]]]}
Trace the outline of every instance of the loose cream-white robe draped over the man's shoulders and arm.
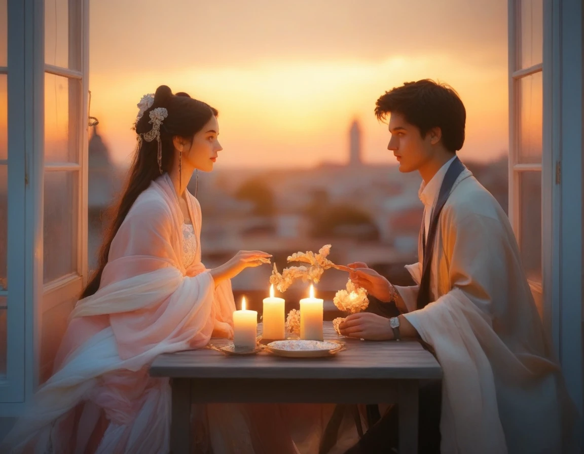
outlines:
{"label": "loose cream-white robe draped over the man's shoulders and arm", "polygon": [[[578,416],[515,235],[467,169],[440,214],[433,248],[433,302],[416,310],[418,285],[397,289],[404,316],[443,368],[442,453],[578,452]],[[416,284],[422,254],[420,239],[419,263],[406,267]]]}

